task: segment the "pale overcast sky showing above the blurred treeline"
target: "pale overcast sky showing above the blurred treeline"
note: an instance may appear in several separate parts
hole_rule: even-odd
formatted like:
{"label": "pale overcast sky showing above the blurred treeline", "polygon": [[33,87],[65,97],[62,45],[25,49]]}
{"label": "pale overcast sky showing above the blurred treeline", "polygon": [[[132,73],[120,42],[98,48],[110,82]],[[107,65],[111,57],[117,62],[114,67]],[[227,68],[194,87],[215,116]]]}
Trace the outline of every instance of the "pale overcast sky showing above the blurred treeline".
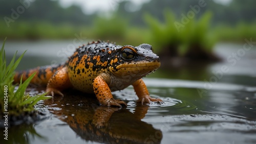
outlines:
{"label": "pale overcast sky showing above the blurred treeline", "polygon": [[[115,10],[118,3],[120,3],[123,0],[60,0],[60,3],[64,7],[68,7],[72,4],[78,4],[82,7],[83,12],[91,14],[95,11],[101,11],[101,12],[108,12]],[[150,0],[130,0],[133,2],[136,6],[140,6],[143,3],[149,2]],[[159,0],[153,0],[153,1],[159,1]],[[205,0],[205,2],[210,0]],[[228,4],[232,0],[214,0],[217,3],[221,4]]]}

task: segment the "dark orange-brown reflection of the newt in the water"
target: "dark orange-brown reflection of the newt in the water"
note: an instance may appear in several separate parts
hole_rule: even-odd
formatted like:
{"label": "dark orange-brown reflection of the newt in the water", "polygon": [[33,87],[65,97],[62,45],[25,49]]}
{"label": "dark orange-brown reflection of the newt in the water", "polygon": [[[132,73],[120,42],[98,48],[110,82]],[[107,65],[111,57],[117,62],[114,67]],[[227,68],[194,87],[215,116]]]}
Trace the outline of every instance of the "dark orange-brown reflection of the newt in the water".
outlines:
{"label": "dark orange-brown reflection of the newt in the water", "polygon": [[45,104],[61,108],[52,112],[61,116],[59,119],[69,124],[85,140],[103,143],[160,143],[162,139],[160,130],[141,121],[148,110],[146,105],[137,104],[132,113],[126,108],[99,106],[93,96],[85,99],[79,94],[55,97],[46,100]]}

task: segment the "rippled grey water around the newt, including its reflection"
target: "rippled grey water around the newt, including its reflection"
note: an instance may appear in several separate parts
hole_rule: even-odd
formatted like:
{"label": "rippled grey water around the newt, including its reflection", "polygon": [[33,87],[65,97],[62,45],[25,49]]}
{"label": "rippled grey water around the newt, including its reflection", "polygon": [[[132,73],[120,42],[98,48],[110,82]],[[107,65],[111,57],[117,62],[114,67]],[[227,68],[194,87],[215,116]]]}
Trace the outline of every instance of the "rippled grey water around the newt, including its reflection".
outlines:
{"label": "rippled grey water around the newt, including its reflection", "polygon": [[[10,57],[28,48],[18,68],[26,69],[60,62],[69,43],[7,42],[6,53]],[[243,45],[218,44],[215,52],[222,62],[172,65],[148,75],[148,91],[161,104],[136,103],[132,87],[113,93],[127,108],[100,107],[92,95],[66,91],[63,98],[37,105],[48,113],[46,119],[11,127],[8,142],[256,143],[256,49],[244,54],[241,49]]]}

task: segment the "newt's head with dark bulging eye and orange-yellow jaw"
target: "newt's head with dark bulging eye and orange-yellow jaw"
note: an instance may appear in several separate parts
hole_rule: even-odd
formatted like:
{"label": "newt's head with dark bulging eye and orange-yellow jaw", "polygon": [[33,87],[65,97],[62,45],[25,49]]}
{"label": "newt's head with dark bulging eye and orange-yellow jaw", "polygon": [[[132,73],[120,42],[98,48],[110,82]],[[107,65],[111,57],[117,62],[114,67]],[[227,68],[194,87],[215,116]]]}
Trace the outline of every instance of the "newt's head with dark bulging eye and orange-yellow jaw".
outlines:
{"label": "newt's head with dark bulging eye and orange-yellow jaw", "polygon": [[112,61],[110,70],[116,76],[130,75],[139,79],[160,67],[160,58],[149,44],[136,47],[125,45],[115,54],[117,56]]}

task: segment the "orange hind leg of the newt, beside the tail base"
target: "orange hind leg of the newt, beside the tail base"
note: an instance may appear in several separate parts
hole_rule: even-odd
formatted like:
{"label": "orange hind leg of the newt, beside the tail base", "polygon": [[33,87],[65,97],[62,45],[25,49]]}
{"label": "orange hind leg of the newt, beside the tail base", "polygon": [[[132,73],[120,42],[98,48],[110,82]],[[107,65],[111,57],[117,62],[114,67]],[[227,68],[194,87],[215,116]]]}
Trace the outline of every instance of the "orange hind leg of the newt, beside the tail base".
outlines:
{"label": "orange hind leg of the newt, beside the tail base", "polygon": [[46,92],[49,92],[52,96],[54,94],[63,96],[61,91],[68,88],[72,88],[72,84],[69,80],[68,68],[63,67],[52,75],[48,81]]}

